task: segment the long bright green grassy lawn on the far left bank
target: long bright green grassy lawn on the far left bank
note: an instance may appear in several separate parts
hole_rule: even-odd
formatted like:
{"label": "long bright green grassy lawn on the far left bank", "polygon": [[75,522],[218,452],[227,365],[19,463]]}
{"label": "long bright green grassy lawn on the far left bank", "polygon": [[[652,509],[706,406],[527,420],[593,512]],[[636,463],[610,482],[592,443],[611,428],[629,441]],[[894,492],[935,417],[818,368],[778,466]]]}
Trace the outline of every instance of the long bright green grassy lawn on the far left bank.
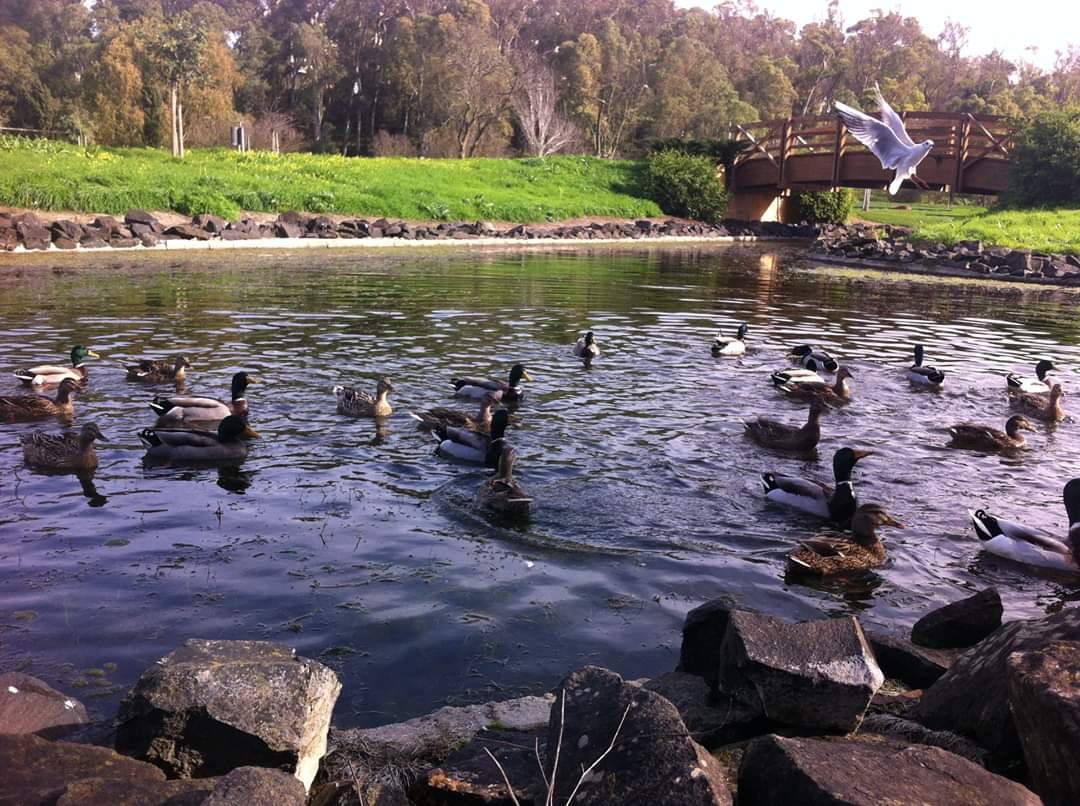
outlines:
{"label": "long bright green grassy lawn on the far left bank", "polygon": [[436,220],[659,216],[645,165],[585,157],[346,159],[193,149],[93,148],[0,137],[0,205],[121,214],[346,213]]}

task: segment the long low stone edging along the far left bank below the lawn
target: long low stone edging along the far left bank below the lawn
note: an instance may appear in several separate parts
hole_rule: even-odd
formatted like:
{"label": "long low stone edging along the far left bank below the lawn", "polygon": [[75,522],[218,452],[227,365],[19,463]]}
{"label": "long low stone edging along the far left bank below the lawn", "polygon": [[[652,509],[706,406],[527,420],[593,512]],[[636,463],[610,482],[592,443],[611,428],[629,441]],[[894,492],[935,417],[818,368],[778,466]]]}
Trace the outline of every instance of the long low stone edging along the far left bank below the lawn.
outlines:
{"label": "long low stone edging along the far left bank below the lawn", "polygon": [[[227,221],[215,215],[197,215],[190,221],[167,225],[157,216],[131,210],[123,220],[97,216],[80,224],[71,219],[51,223],[35,213],[0,214],[0,251],[154,248],[183,242],[264,241],[279,239],[308,241],[470,241],[499,239],[535,240],[639,240],[643,238],[815,238],[814,227],[760,221],[724,221],[710,225],[669,218],[636,221],[593,221],[495,226],[485,221],[411,224],[386,218],[341,218],[340,216],[282,213],[273,220],[242,218]],[[343,244],[341,244],[343,245]]]}

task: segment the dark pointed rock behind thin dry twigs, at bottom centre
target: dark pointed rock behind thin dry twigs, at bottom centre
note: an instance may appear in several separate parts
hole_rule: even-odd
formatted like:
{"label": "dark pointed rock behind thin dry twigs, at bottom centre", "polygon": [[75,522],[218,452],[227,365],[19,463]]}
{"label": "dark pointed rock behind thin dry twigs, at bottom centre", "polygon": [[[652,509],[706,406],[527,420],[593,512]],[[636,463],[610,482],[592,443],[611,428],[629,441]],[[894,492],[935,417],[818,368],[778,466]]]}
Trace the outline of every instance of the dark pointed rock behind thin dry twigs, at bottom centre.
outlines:
{"label": "dark pointed rock behind thin dry twigs, at bottom centre", "polygon": [[[599,758],[612,739],[613,749],[584,777],[575,804],[731,803],[719,763],[689,737],[675,707],[596,667],[563,681],[551,709],[546,775],[555,780],[556,803],[567,802],[582,770]],[[553,770],[556,748],[558,767]]]}

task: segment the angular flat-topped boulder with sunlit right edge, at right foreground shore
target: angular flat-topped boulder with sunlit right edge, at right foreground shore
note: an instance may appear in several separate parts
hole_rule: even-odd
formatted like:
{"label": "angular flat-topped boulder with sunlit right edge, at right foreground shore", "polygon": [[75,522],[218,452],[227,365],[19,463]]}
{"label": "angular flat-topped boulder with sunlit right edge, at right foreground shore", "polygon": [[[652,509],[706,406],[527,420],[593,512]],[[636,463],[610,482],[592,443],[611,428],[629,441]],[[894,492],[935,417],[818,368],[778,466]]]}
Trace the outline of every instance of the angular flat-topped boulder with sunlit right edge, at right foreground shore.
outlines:
{"label": "angular flat-topped boulder with sunlit right edge, at right foreground shore", "polygon": [[853,730],[885,682],[852,617],[787,623],[731,614],[721,647],[721,691],[756,699],[774,722],[802,729]]}

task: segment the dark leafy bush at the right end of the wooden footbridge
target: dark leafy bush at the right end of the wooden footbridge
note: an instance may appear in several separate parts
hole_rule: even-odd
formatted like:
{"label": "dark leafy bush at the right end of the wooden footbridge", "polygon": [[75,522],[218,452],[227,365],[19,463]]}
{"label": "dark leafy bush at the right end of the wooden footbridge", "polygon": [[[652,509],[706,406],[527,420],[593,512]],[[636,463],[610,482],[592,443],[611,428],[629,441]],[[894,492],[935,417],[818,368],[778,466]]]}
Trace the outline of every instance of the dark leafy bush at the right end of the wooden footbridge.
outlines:
{"label": "dark leafy bush at the right end of the wooden footbridge", "polygon": [[1043,112],[1024,127],[1005,202],[1027,207],[1080,202],[1080,108]]}

